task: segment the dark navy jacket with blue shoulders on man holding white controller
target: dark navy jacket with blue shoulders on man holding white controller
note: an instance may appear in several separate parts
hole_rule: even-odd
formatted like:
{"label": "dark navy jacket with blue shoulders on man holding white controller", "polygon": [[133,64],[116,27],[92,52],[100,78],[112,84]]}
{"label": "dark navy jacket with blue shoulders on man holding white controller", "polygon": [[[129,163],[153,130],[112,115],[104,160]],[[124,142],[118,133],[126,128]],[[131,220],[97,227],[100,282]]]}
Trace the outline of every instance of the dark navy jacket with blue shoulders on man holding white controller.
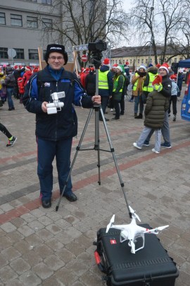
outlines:
{"label": "dark navy jacket with blue shoulders on man holding white controller", "polygon": [[[56,79],[57,78],[57,79]],[[47,114],[42,110],[42,102],[53,102],[51,93],[65,92],[61,111]],[[28,112],[36,114],[36,135],[50,141],[68,139],[77,134],[77,115],[73,104],[93,107],[91,97],[84,93],[77,76],[70,71],[53,71],[46,66],[34,73],[25,86],[23,104]]]}

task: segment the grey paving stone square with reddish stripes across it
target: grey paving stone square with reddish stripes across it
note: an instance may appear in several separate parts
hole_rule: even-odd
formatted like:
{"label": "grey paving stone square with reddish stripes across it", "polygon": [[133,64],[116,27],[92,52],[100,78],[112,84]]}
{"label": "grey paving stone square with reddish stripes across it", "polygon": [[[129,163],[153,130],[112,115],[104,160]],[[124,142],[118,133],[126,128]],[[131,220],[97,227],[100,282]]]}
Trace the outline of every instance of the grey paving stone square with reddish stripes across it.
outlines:
{"label": "grey paving stone square with reddish stripes across it", "polygon": [[[96,232],[106,227],[115,213],[115,223],[129,223],[120,179],[110,152],[100,152],[101,185],[98,184],[96,150],[80,151],[72,169],[73,190],[78,201],[58,203],[58,179],[53,163],[53,203],[42,208],[37,178],[37,145],[34,114],[18,100],[15,111],[7,104],[0,109],[1,122],[18,137],[13,148],[0,134],[0,286],[95,286],[105,285],[94,260]],[[172,148],[152,153],[136,150],[132,143],[143,128],[143,120],[134,119],[134,103],[125,101],[125,115],[119,121],[107,121],[111,143],[120,169],[129,205],[142,223],[151,227],[170,225],[159,234],[160,242],[174,258],[179,269],[176,286],[189,286],[190,280],[190,125],[170,118]],[[89,110],[77,107],[78,137],[72,144],[72,158],[79,144]],[[50,115],[51,116],[51,115]],[[108,109],[106,118],[113,112]],[[82,148],[94,148],[94,112],[87,126]],[[103,123],[100,122],[100,146],[110,151]],[[162,286],[162,285],[160,285]]]}

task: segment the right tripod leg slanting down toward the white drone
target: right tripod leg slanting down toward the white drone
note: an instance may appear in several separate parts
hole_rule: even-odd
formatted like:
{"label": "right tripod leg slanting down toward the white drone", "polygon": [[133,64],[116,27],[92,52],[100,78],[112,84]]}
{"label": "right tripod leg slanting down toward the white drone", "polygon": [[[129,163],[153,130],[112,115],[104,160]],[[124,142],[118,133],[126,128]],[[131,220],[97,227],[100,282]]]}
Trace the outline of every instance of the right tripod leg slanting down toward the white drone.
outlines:
{"label": "right tripod leg slanting down toward the white drone", "polygon": [[125,202],[126,202],[126,204],[127,204],[127,208],[128,208],[128,212],[129,212],[129,217],[132,218],[132,213],[131,213],[131,211],[130,211],[130,209],[129,209],[129,204],[128,204],[127,196],[126,196],[125,189],[124,189],[124,183],[123,183],[122,177],[121,177],[121,175],[120,175],[120,169],[119,169],[119,167],[118,167],[118,162],[117,162],[116,157],[115,157],[113,145],[112,145],[112,143],[111,143],[111,141],[110,141],[110,135],[109,135],[109,133],[108,133],[108,128],[107,128],[107,126],[106,126],[106,120],[105,120],[105,118],[104,118],[103,110],[102,110],[101,107],[100,107],[100,112],[101,112],[101,117],[102,117],[102,119],[103,119],[103,126],[104,126],[104,128],[105,128],[105,130],[106,130],[106,135],[107,135],[107,138],[108,138],[108,142],[109,142],[109,144],[110,144],[110,151],[111,151],[111,153],[112,153],[112,155],[113,155],[113,160],[114,160],[114,162],[115,162],[115,167],[116,167],[116,169],[117,169],[118,177],[119,177],[119,179],[120,179],[120,185],[121,185],[121,187],[122,187],[122,192],[123,192],[123,194],[124,194]]}

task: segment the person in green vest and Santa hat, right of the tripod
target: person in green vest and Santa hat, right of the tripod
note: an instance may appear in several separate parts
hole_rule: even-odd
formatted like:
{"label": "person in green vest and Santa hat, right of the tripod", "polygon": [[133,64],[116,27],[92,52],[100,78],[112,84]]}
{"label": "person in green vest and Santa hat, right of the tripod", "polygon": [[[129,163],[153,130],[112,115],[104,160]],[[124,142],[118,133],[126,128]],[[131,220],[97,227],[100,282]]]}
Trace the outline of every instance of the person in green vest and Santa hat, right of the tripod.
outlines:
{"label": "person in green vest and Santa hat, right of the tripod", "polygon": [[122,89],[125,82],[125,78],[122,74],[122,67],[117,66],[116,73],[113,78],[113,106],[115,108],[115,117],[112,120],[120,119],[120,101],[122,98]]}

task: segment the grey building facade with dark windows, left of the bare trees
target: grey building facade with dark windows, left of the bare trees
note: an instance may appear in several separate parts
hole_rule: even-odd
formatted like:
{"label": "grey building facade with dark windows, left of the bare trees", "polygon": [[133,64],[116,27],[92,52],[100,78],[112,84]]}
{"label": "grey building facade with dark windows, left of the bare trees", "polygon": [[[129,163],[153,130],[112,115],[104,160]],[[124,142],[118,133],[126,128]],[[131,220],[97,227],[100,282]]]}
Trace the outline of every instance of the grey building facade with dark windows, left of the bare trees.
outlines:
{"label": "grey building facade with dark windows, left of the bare trees", "polygon": [[[43,37],[53,19],[61,12],[51,10],[52,0],[6,0],[0,4],[0,65],[32,66],[39,64],[38,47],[45,52],[46,44],[58,41],[56,32]],[[40,20],[41,19],[41,20]],[[60,21],[61,22],[61,21]],[[8,56],[14,49],[16,56]],[[13,54],[12,54],[13,55]]]}

